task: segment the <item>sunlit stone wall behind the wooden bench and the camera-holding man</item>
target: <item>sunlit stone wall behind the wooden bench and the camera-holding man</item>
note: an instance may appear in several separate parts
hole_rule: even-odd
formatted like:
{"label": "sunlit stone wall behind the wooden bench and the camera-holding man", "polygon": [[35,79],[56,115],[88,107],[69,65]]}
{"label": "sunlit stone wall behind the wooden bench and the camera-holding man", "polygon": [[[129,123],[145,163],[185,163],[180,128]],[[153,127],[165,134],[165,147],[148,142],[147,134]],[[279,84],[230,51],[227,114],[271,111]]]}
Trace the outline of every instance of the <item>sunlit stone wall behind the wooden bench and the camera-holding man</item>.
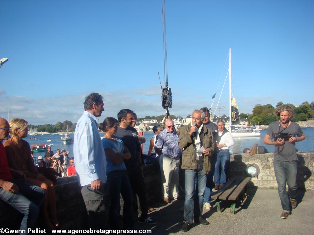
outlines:
{"label": "sunlit stone wall behind the wooden bench and the camera-holding man", "polygon": [[[314,152],[297,152],[298,172],[297,183],[300,189],[314,190]],[[255,163],[260,170],[258,177],[251,182],[258,187],[277,188],[277,181],[273,170],[273,153],[269,154],[232,154],[228,175],[245,175],[246,164]]]}

